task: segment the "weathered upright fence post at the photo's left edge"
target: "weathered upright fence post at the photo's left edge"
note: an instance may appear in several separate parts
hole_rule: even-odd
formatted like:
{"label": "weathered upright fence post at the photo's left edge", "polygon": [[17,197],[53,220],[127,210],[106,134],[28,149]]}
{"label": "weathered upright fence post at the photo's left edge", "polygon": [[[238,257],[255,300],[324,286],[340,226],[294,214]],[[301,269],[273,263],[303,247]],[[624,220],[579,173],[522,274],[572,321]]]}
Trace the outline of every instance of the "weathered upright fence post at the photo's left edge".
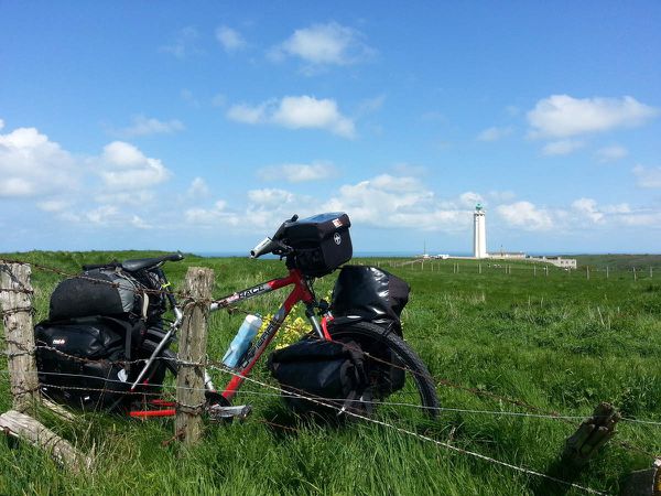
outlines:
{"label": "weathered upright fence post at the photo's left edge", "polygon": [[31,269],[25,263],[0,265],[0,310],[4,323],[13,409],[33,410],[39,401],[34,359]]}

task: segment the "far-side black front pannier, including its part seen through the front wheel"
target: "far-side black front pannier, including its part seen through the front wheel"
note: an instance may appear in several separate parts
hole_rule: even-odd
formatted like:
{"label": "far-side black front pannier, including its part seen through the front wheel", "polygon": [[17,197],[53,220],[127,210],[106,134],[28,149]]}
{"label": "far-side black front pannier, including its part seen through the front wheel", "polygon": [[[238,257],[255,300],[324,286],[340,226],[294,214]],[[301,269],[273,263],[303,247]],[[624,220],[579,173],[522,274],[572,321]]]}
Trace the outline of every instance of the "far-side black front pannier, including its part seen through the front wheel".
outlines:
{"label": "far-side black front pannier, including its part seen through the front wheel", "polygon": [[[411,288],[404,280],[386,270],[345,266],[333,288],[330,310],[336,317],[334,324],[342,326],[345,321],[343,317],[357,317],[395,332],[401,337],[400,316],[409,302],[410,291]],[[334,325],[329,327],[330,335],[333,327]],[[401,389],[405,382],[403,362],[378,343],[361,343],[361,346],[380,360],[368,364],[380,378],[377,388],[379,392],[389,395]]]}

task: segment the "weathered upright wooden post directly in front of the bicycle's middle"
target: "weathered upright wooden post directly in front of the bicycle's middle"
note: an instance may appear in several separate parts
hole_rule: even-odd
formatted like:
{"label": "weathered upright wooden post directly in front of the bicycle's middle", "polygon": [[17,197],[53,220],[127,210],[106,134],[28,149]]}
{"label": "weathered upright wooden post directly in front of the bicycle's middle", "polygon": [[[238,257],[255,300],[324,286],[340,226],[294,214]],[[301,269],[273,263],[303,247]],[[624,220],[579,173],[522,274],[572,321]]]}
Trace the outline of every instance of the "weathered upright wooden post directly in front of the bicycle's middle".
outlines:
{"label": "weathered upright wooden post directly in front of the bicycle's middle", "polygon": [[214,271],[189,267],[185,291],[193,300],[185,308],[178,346],[178,374],[176,377],[175,436],[185,444],[202,438],[204,410],[204,359],[206,357],[207,320],[214,285]]}

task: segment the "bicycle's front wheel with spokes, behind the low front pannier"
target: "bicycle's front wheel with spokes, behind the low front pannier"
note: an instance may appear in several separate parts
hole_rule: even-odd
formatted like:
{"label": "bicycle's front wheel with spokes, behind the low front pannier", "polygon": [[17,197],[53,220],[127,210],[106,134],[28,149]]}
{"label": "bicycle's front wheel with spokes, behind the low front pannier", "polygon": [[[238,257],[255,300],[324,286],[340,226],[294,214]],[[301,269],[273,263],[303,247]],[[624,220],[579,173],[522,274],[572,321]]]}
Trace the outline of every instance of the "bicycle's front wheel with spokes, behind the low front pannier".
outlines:
{"label": "bicycle's front wheel with spokes, behind the low front pannier", "polygon": [[334,341],[360,345],[370,382],[370,416],[429,420],[438,414],[432,376],[400,336],[369,322],[330,325],[328,331]]}

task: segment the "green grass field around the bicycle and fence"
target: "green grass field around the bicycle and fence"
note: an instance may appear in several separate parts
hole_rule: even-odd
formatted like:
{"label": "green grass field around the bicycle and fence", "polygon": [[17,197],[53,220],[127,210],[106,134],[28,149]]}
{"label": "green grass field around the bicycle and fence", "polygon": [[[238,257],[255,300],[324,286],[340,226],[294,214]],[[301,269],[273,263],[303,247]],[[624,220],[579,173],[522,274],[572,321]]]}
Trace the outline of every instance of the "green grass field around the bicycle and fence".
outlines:
{"label": "green grass field around the bicycle and fence", "polygon": [[[148,256],[145,252],[31,252],[7,255],[74,273],[85,262]],[[1,257],[0,257],[1,258]],[[386,266],[412,287],[404,311],[404,336],[436,378],[443,411],[430,436],[457,448],[537,472],[551,473],[564,440],[578,421],[462,412],[529,412],[487,392],[541,411],[588,416],[600,401],[629,419],[661,422],[661,269],[637,280],[627,270],[585,272],[512,263],[453,260],[390,267],[395,260],[357,260]],[[400,260],[401,261],[401,260]],[[589,265],[597,266],[597,259]],[[609,263],[614,263],[610,261]],[[643,261],[644,263],[644,261]],[[651,263],[646,263],[649,267]],[[225,295],[281,276],[275,260],[187,257],[165,267],[181,287],[188,266],[215,270],[215,295]],[[622,267],[627,267],[622,262]],[[424,270],[423,270],[424,269]],[[33,269],[35,320],[45,319],[48,295],[61,276]],[[334,282],[317,282],[326,294]],[[280,294],[249,302],[268,313]],[[215,314],[208,353],[219,359],[241,315]],[[2,369],[7,366],[3,363]],[[267,377],[264,369],[258,377]],[[0,410],[10,408],[8,378],[1,377]],[[217,377],[220,382],[221,377]],[[226,378],[227,379],[227,378]],[[466,389],[448,387],[447,381]],[[253,385],[246,385],[260,392]],[[269,392],[262,390],[261,392]],[[85,413],[74,425],[44,421],[84,450],[96,453],[88,475],[66,473],[39,450],[0,443],[0,494],[564,494],[538,477],[458,454],[390,428],[367,422],[344,427],[293,423],[270,425],[283,407],[272,396],[243,395],[252,416],[243,423],[206,424],[204,442],[185,450],[163,445],[171,421],[131,421]],[[618,493],[635,470],[661,454],[661,427],[622,421],[618,434],[575,482]],[[629,446],[622,445],[628,443]],[[633,446],[635,449],[631,449]],[[637,451],[637,450],[638,451]],[[646,454],[647,453],[647,454]],[[570,489],[567,494],[582,494]]]}

